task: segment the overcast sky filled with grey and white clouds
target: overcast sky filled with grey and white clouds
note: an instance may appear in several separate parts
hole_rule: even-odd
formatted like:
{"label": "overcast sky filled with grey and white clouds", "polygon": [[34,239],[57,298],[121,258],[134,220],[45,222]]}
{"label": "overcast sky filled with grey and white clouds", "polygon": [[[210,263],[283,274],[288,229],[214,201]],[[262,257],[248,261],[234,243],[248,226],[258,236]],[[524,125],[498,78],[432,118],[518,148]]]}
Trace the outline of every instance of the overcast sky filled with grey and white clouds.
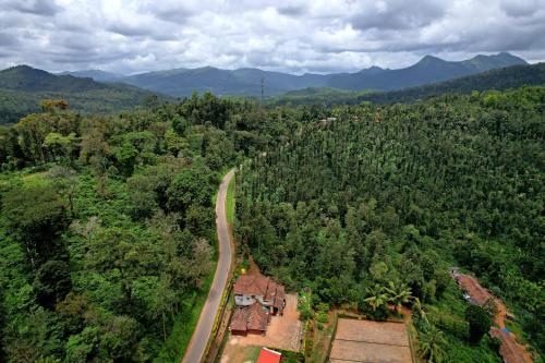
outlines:
{"label": "overcast sky filled with grey and white clouds", "polygon": [[0,0],[0,68],[402,68],[424,55],[545,60],[545,0]]}

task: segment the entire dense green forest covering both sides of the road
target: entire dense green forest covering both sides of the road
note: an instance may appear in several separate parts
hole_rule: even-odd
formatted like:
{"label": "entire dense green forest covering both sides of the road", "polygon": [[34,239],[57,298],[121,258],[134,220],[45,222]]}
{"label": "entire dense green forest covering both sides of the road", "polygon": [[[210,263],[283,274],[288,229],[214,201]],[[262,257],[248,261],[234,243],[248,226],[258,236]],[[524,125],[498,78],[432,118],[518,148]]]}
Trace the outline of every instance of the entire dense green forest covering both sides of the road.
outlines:
{"label": "entire dense green forest covering both sides of the road", "polygon": [[114,116],[45,101],[0,126],[0,361],[179,360],[233,166],[239,253],[314,306],[383,319],[395,293],[423,355],[499,362],[458,265],[543,354],[544,105],[542,87],[331,108],[207,93]]}

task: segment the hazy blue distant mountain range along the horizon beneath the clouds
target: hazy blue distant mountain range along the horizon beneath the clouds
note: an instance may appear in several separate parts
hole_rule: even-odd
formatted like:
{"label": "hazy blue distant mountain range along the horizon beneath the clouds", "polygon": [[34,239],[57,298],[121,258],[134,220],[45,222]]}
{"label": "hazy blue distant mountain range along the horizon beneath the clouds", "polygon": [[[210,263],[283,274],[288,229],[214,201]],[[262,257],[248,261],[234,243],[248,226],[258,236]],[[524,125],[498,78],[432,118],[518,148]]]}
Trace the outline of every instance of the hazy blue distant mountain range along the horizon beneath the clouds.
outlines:
{"label": "hazy blue distant mountain range along the horizon beneath the clouds", "polygon": [[523,59],[500,52],[476,56],[464,61],[446,61],[426,56],[415,64],[397,70],[371,66],[355,73],[294,75],[263,71],[255,68],[222,70],[213,66],[173,69],[134,75],[121,75],[99,70],[64,72],[98,82],[122,82],[172,97],[190,96],[193,92],[209,90],[219,96],[259,96],[262,80],[265,96],[275,96],[307,87],[329,87],[346,90],[392,90],[447,81],[493,69],[528,64]]}

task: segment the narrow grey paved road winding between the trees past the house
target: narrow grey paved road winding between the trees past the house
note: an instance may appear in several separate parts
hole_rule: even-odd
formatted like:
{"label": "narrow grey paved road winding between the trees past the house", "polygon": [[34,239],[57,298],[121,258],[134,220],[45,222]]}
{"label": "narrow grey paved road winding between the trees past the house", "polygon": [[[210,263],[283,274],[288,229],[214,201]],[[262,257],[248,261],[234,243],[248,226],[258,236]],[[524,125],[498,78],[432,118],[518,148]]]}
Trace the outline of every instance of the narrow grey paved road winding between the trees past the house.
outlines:
{"label": "narrow grey paved road winding between the trees past the house", "polygon": [[216,275],[208,292],[208,299],[201,312],[197,326],[193,331],[185,355],[182,363],[199,363],[206,350],[208,338],[211,334],[216,313],[218,312],[221,294],[226,288],[229,277],[229,268],[231,267],[231,234],[227,223],[226,215],[226,197],[227,186],[234,174],[234,169],[229,171],[221,181],[216,201],[216,228],[218,231],[219,258],[216,266]]}

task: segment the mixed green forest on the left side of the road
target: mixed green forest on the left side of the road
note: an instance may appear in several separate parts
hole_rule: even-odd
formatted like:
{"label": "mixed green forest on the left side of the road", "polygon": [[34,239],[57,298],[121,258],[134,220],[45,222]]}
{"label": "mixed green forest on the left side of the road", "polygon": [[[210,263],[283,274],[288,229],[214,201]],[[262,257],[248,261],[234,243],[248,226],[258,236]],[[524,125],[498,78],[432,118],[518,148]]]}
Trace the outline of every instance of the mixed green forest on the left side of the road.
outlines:
{"label": "mixed green forest on the left side of the road", "polygon": [[0,361],[180,359],[220,172],[275,126],[210,94],[116,117],[43,107],[0,128]]}

